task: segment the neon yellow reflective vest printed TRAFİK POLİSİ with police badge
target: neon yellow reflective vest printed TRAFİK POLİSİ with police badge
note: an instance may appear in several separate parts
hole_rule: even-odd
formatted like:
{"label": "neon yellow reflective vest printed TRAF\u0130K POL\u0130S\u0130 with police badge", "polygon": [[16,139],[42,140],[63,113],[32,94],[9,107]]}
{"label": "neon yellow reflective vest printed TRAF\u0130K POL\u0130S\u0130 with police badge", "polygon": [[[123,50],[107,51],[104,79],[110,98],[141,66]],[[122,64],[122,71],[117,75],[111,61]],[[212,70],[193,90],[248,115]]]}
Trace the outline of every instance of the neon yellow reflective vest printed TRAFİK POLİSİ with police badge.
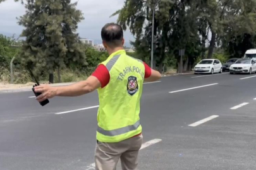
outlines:
{"label": "neon yellow reflective vest printed TRAF\u0130K POL\u0130S\u0130 with police badge", "polygon": [[98,89],[96,137],[100,142],[120,142],[142,132],[139,115],[145,66],[125,50],[111,54],[101,64],[109,71],[110,81]]}

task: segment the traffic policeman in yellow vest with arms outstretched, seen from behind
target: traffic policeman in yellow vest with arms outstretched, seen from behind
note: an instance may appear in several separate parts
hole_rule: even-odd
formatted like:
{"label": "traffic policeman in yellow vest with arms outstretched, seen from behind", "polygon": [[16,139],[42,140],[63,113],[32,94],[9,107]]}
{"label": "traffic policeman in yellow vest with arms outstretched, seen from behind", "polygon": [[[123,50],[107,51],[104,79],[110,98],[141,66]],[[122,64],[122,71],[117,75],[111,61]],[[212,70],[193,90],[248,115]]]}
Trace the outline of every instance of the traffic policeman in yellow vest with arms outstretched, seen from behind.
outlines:
{"label": "traffic policeman in yellow vest with arms outstretched, seen from behind", "polygon": [[40,85],[35,87],[35,92],[42,93],[37,97],[40,102],[54,96],[81,96],[97,89],[99,110],[95,167],[114,170],[121,159],[123,170],[133,170],[137,168],[143,138],[140,125],[143,82],[157,81],[161,74],[126,54],[121,26],[114,23],[105,25],[101,37],[109,57],[87,80],[70,86]]}

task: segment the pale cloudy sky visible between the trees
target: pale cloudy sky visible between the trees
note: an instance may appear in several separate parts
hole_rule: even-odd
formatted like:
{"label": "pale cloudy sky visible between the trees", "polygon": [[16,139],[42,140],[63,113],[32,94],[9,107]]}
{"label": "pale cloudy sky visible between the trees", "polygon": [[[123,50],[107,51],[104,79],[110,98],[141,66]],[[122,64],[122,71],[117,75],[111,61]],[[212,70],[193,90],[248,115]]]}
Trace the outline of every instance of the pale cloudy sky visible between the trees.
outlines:
{"label": "pale cloudy sky visible between the trees", "polygon": [[[109,18],[111,14],[123,7],[125,0],[71,0],[78,2],[76,8],[81,10],[85,18],[78,24],[77,33],[82,38],[95,40],[101,43],[101,28],[106,23],[116,22],[117,16]],[[21,3],[7,0],[0,3],[0,34],[18,37],[24,29],[17,23],[17,17],[25,14],[25,8]],[[125,31],[126,46],[130,46],[130,40],[134,40],[129,30]]]}

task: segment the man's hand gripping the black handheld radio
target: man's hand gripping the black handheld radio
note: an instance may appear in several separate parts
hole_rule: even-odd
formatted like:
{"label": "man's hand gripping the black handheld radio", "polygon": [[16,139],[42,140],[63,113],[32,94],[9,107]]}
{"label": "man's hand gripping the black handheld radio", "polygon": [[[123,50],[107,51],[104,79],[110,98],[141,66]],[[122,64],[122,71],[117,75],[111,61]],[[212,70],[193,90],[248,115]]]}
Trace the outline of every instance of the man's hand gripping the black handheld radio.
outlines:
{"label": "man's hand gripping the black handheld radio", "polygon": [[51,87],[47,84],[42,84],[40,86],[36,86],[35,93],[42,93],[40,96],[37,96],[37,101],[41,102],[46,99],[51,99],[56,96],[56,88]]}

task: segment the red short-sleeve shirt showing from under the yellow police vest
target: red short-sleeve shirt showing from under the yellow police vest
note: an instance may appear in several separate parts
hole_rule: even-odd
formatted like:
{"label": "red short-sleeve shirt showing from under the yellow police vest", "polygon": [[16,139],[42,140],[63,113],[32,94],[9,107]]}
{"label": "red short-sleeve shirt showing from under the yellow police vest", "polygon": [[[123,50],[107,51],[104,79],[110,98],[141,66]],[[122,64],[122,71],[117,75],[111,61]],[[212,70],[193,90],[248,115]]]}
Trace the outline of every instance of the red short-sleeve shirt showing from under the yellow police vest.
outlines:
{"label": "red short-sleeve shirt showing from under the yellow police vest", "polygon": [[[145,66],[145,79],[151,76],[151,68],[145,62],[143,62]],[[101,82],[101,88],[107,86],[110,81],[109,71],[107,67],[103,64],[100,64],[97,69],[92,73],[92,76],[96,77]]]}

